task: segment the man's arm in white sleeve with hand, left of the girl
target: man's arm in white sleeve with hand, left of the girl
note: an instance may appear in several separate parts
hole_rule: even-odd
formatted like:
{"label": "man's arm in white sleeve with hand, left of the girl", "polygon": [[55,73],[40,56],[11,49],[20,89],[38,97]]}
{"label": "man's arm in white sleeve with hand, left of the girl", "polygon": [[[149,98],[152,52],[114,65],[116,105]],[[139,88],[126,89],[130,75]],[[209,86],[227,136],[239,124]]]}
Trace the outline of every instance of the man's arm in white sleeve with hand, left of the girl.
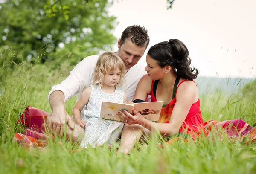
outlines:
{"label": "man's arm in white sleeve with hand, left of the girl", "polygon": [[64,102],[75,94],[81,92],[84,87],[90,86],[91,75],[95,68],[98,55],[85,58],[70,72],[70,75],[61,84],[52,87],[49,93],[49,103],[52,113],[48,116],[48,126],[59,135],[61,126],[67,122],[71,129],[72,117],[65,111]]}

